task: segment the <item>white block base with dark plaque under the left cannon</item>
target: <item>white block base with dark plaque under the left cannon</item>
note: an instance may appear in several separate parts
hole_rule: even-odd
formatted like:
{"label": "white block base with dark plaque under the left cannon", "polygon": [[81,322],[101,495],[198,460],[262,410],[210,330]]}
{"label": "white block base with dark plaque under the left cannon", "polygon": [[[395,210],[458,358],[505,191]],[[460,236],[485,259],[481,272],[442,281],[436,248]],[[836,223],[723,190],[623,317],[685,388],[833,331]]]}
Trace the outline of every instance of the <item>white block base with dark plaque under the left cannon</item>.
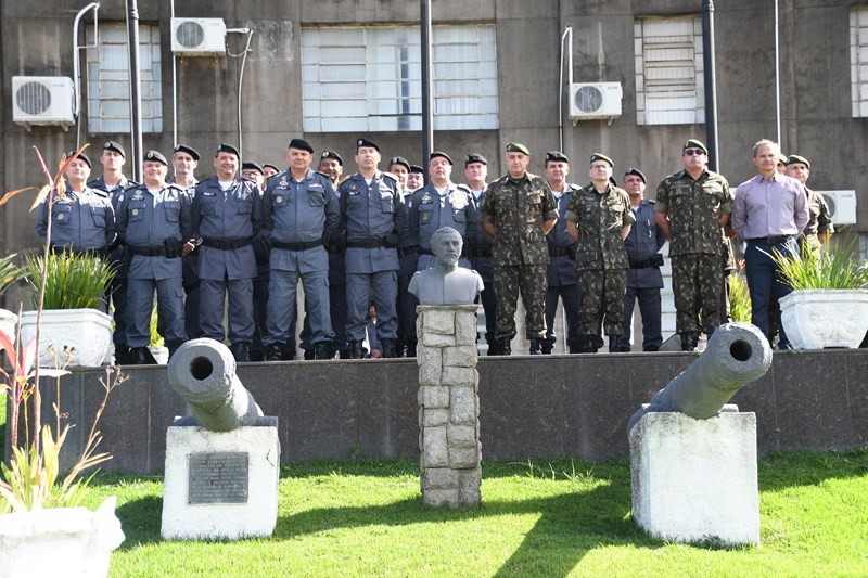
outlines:
{"label": "white block base with dark plaque under the left cannon", "polygon": [[[183,423],[183,422],[180,422]],[[269,537],[278,519],[278,419],[230,432],[173,425],[166,434],[166,540]]]}

